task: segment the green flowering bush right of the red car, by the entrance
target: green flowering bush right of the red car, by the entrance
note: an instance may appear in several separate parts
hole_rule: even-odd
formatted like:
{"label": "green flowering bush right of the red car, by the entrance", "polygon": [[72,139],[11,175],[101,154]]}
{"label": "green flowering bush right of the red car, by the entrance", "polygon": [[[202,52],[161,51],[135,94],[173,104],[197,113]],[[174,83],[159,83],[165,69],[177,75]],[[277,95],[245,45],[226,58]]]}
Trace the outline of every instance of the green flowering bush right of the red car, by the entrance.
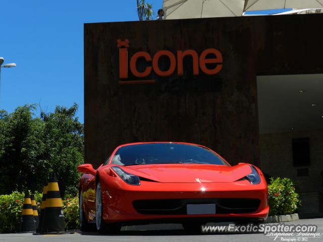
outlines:
{"label": "green flowering bush right of the red car, by the entrance", "polygon": [[271,177],[268,185],[269,215],[293,214],[301,206],[295,182],[289,178]]}

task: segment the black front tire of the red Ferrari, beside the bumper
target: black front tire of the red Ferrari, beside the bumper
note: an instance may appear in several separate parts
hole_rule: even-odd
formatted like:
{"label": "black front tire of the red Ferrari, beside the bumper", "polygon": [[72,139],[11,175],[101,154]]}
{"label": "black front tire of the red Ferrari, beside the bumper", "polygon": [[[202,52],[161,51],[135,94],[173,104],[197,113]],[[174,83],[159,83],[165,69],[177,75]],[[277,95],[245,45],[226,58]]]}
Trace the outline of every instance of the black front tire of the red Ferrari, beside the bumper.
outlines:
{"label": "black front tire of the red Ferrari, beside the bumper", "polygon": [[114,223],[105,223],[102,218],[103,214],[103,202],[102,202],[102,193],[101,193],[101,184],[98,180],[96,183],[95,191],[95,221],[96,221],[96,230],[99,233],[118,233],[120,232],[121,226]]}

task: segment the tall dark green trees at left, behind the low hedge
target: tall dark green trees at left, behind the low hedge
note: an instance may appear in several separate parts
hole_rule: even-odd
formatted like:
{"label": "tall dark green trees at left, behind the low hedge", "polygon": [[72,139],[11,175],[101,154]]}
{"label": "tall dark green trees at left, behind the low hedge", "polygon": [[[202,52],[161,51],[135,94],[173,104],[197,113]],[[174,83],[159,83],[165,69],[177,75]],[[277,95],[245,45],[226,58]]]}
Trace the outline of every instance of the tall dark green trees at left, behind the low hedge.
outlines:
{"label": "tall dark green trees at left, behind the low hedge", "polygon": [[57,174],[61,196],[76,194],[83,163],[84,127],[75,117],[78,105],[57,106],[53,113],[33,117],[36,104],[0,111],[0,194],[42,192],[51,172]]}

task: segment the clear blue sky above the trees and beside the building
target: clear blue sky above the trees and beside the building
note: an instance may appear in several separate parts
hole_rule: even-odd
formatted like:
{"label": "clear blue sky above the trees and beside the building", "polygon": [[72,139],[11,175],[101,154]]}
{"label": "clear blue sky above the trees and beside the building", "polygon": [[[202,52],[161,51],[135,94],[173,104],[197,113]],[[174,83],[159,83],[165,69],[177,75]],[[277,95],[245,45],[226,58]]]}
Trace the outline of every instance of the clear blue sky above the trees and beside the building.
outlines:
{"label": "clear blue sky above the trees and beside the building", "polygon": [[[154,12],[163,0],[147,0]],[[136,0],[0,2],[0,109],[9,113],[24,104],[39,103],[47,112],[56,105],[79,104],[84,120],[83,24],[137,21]]]}

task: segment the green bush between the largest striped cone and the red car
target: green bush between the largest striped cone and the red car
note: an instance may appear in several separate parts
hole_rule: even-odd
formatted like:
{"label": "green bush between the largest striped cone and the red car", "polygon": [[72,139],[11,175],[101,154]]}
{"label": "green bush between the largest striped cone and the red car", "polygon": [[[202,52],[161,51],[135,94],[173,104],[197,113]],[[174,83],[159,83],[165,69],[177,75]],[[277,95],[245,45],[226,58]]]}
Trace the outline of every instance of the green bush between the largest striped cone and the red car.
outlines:
{"label": "green bush between the largest striped cone and the red car", "polygon": [[73,198],[72,196],[65,196],[62,200],[65,227],[67,229],[78,229],[80,227],[79,220],[79,198],[78,196]]}

